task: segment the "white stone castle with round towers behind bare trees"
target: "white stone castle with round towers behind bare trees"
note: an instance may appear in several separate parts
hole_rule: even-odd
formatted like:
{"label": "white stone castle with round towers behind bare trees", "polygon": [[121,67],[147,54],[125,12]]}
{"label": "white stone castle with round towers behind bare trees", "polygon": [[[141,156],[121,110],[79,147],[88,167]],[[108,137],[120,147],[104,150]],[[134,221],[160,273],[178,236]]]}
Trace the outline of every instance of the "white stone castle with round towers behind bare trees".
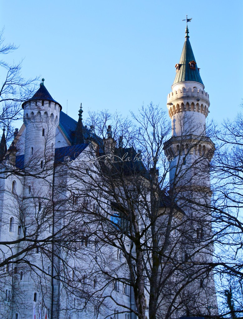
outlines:
{"label": "white stone castle with round towers behind bare trees", "polygon": [[[171,185],[175,178],[182,174],[181,171],[179,173],[176,171],[176,165],[181,160],[183,160],[182,167],[186,167],[188,163],[193,164],[202,154],[212,151],[214,147],[209,137],[201,138],[205,131],[210,102],[208,93],[204,91],[188,33],[186,28],[181,57],[175,66],[176,76],[172,92],[167,97],[167,108],[172,120],[172,137],[164,144],[164,152],[166,157],[174,159],[169,164]],[[82,215],[85,229],[82,226],[77,229],[72,224],[69,227],[70,220],[77,218],[78,223],[81,223],[78,210],[71,211],[69,207],[77,205],[79,191],[86,189],[87,194],[91,193],[91,186],[88,189],[88,182],[86,184],[84,181],[85,178],[87,180],[93,178],[90,172],[94,172],[95,175],[97,169],[95,160],[110,152],[113,154],[122,152],[122,140],[117,144],[114,142],[111,127],[108,127],[106,137],[101,138],[94,134],[92,126],[83,125],[82,108],[77,119],[65,114],[62,106],[48,92],[44,79],[38,91],[30,100],[23,103],[22,108],[23,125],[19,130],[16,129],[13,143],[7,149],[4,132],[0,143],[0,261],[5,261],[0,272],[0,317],[30,319],[34,306],[36,317],[40,309],[41,318],[44,317],[45,308],[48,310],[48,318],[53,319],[137,318],[136,298],[138,297],[129,285],[131,281],[126,283],[126,278],[129,280],[131,278],[124,252],[117,249],[115,243],[114,245],[106,243],[105,238],[101,244],[99,240],[92,241],[88,235],[85,235],[85,229],[99,225],[99,220],[94,222],[94,219],[88,220],[89,217]],[[185,121],[186,116],[187,121]],[[184,145],[181,152],[180,141]],[[190,148],[188,145],[192,143],[196,146]],[[129,148],[129,151],[136,154],[132,148]],[[84,169],[83,163],[88,163],[89,167]],[[82,175],[79,179],[75,172],[81,170],[86,172],[87,176]],[[192,171],[189,170],[183,179],[189,179],[191,175]],[[204,174],[203,178],[193,177],[192,180],[193,182],[188,181],[184,192],[192,193],[190,190],[192,183],[201,188],[201,193],[205,189],[210,189],[209,173]],[[92,183],[89,182],[89,185]],[[195,189],[194,187],[194,193],[197,193]],[[112,190],[110,193],[112,194]],[[97,201],[98,196],[101,198],[102,194],[98,195],[97,191],[97,194],[91,197]],[[116,206],[111,204],[111,197],[109,200],[106,198],[106,204],[113,212],[117,212]],[[210,200],[208,195],[205,197]],[[85,205],[84,203],[85,199],[82,199],[82,205]],[[160,209],[166,211],[167,203],[165,200]],[[98,212],[94,204],[92,207]],[[189,208],[188,211],[184,209],[183,214],[189,216]],[[193,212],[190,214],[193,215]],[[197,218],[200,219],[200,216]],[[114,219],[111,218],[111,221],[114,224]],[[191,224],[194,223],[195,221]],[[196,240],[203,241],[205,230],[198,226],[194,228]],[[72,240],[74,238],[75,241],[78,231],[82,233],[80,237],[82,240],[73,248],[73,241],[69,236],[73,234]],[[52,240],[54,233],[55,240],[60,240],[61,245],[55,244]],[[104,233],[103,230],[102,234]],[[173,234],[176,234],[176,231]],[[128,251],[131,249],[131,254],[134,253],[136,256],[131,241],[125,239],[124,242],[126,249]],[[200,250],[199,260],[209,262],[212,260],[213,247],[204,246]],[[192,249],[195,251],[195,248]],[[188,253],[185,249],[183,258],[187,264],[190,263],[190,254],[191,252]],[[59,260],[60,256],[62,258]],[[159,269],[163,268],[162,265],[163,263]],[[102,274],[98,268],[102,270]],[[217,315],[213,274],[205,271],[203,279],[197,278],[192,284],[188,284],[187,294],[194,295],[195,298],[186,305],[183,301],[185,291],[184,294],[179,294],[177,289],[173,289],[183,269],[183,265],[178,267],[173,274],[174,277],[172,276],[173,280],[170,281],[171,293],[169,297],[167,296],[166,302],[169,305],[170,300],[174,298],[174,301],[169,317]],[[93,271],[92,276],[88,275],[89,271]],[[101,274],[99,278],[95,272]],[[146,282],[146,274],[144,276]],[[162,283],[163,280],[161,287],[158,287],[161,291]],[[85,285],[88,287],[86,290]],[[144,289],[144,319],[149,319],[149,295],[148,284]],[[96,304],[92,300],[99,302]],[[157,319],[165,318],[166,315],[168,317],[169,307],[166,306],[162,296],[157,301],[159,309]]]}

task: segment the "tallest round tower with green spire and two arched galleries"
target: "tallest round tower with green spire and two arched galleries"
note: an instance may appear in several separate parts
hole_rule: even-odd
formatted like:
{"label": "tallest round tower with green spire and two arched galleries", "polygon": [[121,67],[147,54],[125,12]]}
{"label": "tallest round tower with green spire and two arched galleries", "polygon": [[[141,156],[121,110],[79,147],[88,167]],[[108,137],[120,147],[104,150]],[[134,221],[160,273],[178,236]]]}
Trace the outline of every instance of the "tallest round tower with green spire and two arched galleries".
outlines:
{"label": "tallest round tower with green spire and two arched galleries", "polygon": [[[188,20],[187,20],[188,21]],[[217,315],[211,225],[210,160],[214,144],[206,131],[209,95],[204,91],[199,68],[186,27],[185,43],[167,108],[172,120],[172,137],[164,144],[169,163],[170,196],[183,214],[175,218],[180,234],[181,268],[175,282],[184,285],[175,306],[180,316]],[[179,244],[176,244],[179,245]],[[208,271],[205,271],[208,269]],[[183,277],[184,276],[184,277]],[[176,308],[176,307],[175,307]]]}

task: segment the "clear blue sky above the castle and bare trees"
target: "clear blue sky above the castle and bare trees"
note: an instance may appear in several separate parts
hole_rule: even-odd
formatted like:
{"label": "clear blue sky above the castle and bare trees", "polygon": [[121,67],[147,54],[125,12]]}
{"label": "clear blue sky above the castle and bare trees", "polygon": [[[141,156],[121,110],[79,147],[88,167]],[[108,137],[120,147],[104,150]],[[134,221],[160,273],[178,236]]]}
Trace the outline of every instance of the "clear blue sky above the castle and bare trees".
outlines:
{"label": "clear blue sky above the castle and bare trees", "polygon": [[185,19],[205,90],[210,118],[240,110],[243,97],[243,1],[1,1],[5,38],[19,45],[25,77],[45,85],[77,119],[87,109],[124,115],[143,104],[160,104],[175,76]]}

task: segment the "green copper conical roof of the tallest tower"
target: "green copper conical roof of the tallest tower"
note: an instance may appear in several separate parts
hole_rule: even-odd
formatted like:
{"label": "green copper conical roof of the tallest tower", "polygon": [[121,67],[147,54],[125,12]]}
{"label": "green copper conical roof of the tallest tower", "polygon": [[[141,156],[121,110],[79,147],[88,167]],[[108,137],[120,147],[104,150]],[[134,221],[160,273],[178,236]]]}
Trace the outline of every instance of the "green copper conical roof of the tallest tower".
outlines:
{"label": "green copper conical roof of the tallest tower", "polygon": [[199,74],[199,69],[192,51],[191,43],[189,41],[188,27],[186,28],[185,33],[186,40],[182,49],[180,61],[178,64],[176,64],[177,69],[173,85],[184,81],[194,81],[203,85],[203,81]]}

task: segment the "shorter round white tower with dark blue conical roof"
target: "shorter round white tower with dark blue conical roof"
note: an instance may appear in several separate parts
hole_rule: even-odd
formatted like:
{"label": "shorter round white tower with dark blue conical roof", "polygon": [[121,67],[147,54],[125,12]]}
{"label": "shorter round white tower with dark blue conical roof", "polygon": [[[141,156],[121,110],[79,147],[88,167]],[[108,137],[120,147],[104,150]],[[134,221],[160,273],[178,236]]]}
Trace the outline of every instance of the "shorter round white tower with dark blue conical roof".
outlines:
{"label": "shorter round white tower with dark blue conical roof", "polygon": [[[50,276],[54,262],[46,255],[42,240],[50,237],[54,232],[53,214],[53,183],[56,128],[62,109],[44,86],[44,79],[39,90],[33,97],[24,102],[25,152],[24,152],[24,191],[22,202],[21,223],[24,236],[30,239],[34,249],[26,256],[35,271],[26,267],[23,269],[24,278],[20,296],[25,296],[26,317],[32,315],[33,302],[38,307],[39,302],[45,302],[46,308],[51,307],[55,285],[51,284]],[[28,241],[20,243],[25,249]],[[45,244],[46,245],[46,244]],[[50,243],[51,245],[51,243]],[[40,269],[46,271],[44,277]],[[48,275],[47,275],[48,273]],[[18,286],[18,283],[16,284]],[[16,288],[17,289],[17,288]],[[16,295],[16,304],[21,300]]]}

